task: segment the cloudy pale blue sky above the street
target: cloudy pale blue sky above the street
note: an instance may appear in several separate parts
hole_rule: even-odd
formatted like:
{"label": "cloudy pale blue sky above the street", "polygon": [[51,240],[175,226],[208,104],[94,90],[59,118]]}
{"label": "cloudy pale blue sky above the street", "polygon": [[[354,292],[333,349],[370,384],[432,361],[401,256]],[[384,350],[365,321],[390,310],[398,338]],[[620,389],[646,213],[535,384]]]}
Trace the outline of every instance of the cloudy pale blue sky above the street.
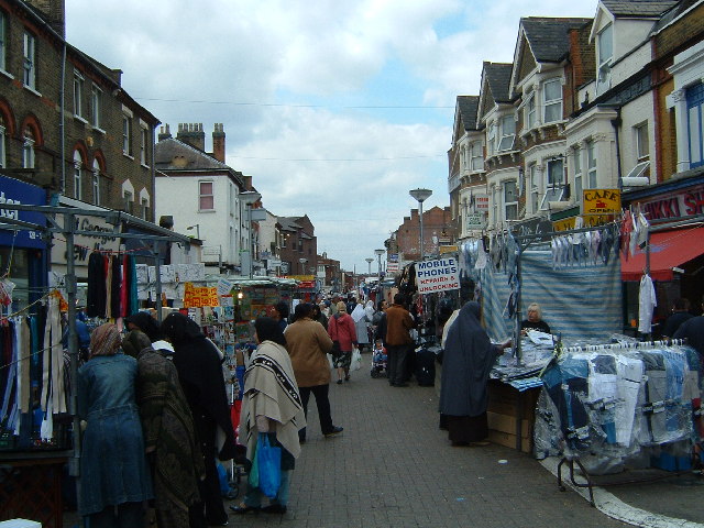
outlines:
{"label": "cloudy pale blue sky above the street", "polygon": [[[512,62],[520,16],[593,16],[596,0],[66,0],[68,42],[123,70],[175,135],[224,123],[227,163],[318,252],[365,273],[418,204],[449,206],[458,95]],[[158,200],[158,197],[157,197]],[[157,205],[157,212],[158,205]],[[375,263],[372,273],[376,273]]]}

